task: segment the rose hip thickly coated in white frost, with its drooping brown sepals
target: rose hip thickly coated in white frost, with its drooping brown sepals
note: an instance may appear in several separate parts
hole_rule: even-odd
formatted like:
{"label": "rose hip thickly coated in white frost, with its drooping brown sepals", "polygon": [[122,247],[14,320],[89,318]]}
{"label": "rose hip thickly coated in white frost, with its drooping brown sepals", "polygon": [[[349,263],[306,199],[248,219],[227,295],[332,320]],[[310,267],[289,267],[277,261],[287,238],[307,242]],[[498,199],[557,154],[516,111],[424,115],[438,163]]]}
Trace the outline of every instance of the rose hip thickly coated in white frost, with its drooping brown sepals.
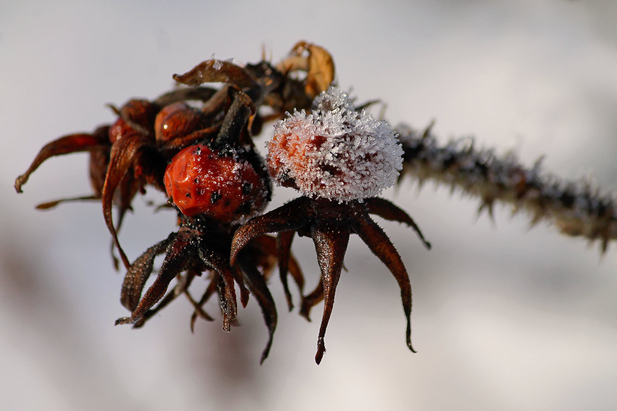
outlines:
{"label": "rose hip thickly coated in white frost, with its drooping brown sepals", "polygon": [[[386,123],[376,120],[354,104],[341,89],[330,87],[313,100],[310,114],[304,110],[288,114],[275,127],[268,143],[268,171],[278,185],[299,190],[303,196],[278,209],[252,218],[234,233],[231,264],[239,251],[255,238],[279,233],[280,264],[291,249],[297,233],[315,244],[321,281],[302,298],[300,313],[309,318],[310,309],[323,300],[323,316],[317,337],[315,362],[326,352],[326,328],[334,306],[349,236],[357,234],[390,270],[399,283],[407,320],[405,342],[412,347],[412,286],[407,270],[386,233],[371,214],[404,223],[424,239],[418,225],[404,210],[376,197],[392,186],[402,168],[403,150],[396,134]],[[286,272],[281,269],[285,286]],[[291,301],[285,289],[288,302]]]}

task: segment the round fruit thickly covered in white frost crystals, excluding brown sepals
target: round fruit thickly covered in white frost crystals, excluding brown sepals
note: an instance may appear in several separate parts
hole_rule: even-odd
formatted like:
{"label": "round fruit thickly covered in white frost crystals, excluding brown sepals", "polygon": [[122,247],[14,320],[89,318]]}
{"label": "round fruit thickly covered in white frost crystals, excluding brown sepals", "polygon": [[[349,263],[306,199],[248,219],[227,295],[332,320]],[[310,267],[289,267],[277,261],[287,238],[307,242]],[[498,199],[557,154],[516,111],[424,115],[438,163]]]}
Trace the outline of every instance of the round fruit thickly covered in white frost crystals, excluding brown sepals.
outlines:
{"label": "round fruit thickly covered in white frost crystals, excluding brown sepals", "polygon": [[346,93],[330,87],[313,110],[288,114],[268,142],[268,169],[278,185],[339,202],[375,197],[394,185],[403,149],[396,133]]}

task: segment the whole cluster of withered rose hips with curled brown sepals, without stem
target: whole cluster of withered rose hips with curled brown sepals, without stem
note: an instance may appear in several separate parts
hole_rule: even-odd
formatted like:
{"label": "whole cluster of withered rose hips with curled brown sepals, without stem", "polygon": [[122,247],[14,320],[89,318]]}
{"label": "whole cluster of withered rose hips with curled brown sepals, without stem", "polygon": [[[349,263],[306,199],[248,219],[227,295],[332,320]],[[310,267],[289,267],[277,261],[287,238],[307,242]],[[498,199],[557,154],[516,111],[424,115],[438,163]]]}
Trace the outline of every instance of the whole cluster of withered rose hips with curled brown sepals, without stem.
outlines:
{"label": "whole cluster of withered rose hips with curled brown sepals, without stem", "polygon": [[[370,215],[405,223],[426,247],[430,245],[411,217],[376,197],[395,183],[403,150],[386,122],[356,109],[347,94],[333,86],[329,53],[300,42],[277,65],[264,60],[240,66],[210,59],[173,78],[181,86],[154,101],[132,99],[119,109],[112,107],[118,115],[114,124],[47,144],[15,181],[21,192],[44,160],[90,153],[93,194],[78,199],[102,202],[104,220],[126,269],[120,301],[130,315],[116,323],[141,326],[184,295],[194,308],[192,328],[197,317],[213,320],[204,304],[217,293],[223,329],[229,331],[238,316],[238,290],[241,305],[252,294],[262,309],[270,333],[263,361],[276,328],[275,303],[267,285],[274,265],[278,264],[290,310],[289,274],[302,294],[304,276],[291,254],[297,234],[312,238],[321,269],[321,281],[312,293],[302,295],[300,309],[309,318],[310,309],[325,301],[315,357],[319,363],[347,243],[355,233],[399,283],[407,345],[413,351],[407,271]],[[264,161],[254,148],[254,137],[273,120],[278,123]],[[270,201],[272,180],[296,188],[302,196],[262,214]],[[131,201],[147,186],[167,194],[179,227],[131,263],[117,232]],[[276,238],[268,233],[276,233]],[[161,254],[162,265],[144,291],[155,257]],[[209,279],[200,299],[189,293],[196,276]],[[174,279],[175,286],[168,291]]]}

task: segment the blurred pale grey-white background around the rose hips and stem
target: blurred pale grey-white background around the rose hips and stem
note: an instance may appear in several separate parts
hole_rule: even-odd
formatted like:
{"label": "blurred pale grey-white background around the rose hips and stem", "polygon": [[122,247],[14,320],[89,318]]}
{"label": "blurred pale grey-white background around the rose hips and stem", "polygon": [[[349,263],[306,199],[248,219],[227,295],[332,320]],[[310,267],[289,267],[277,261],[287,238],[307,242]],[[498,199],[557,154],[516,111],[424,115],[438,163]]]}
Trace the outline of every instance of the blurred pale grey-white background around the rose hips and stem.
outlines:
{"label": "blurred pale grey-white background around the rose hips and stem", "polygon": [[[273,61],[296,41],[325,46],[339,85],[380,98],[386,118],[443,142],[474,136],[524,164],[545,156],[563,178],[616,192],[617,3],[612,0],[379,2],[2,2],[0,4],[0,408],[4,410],[419,409],[615,410],[617,248],[529,230],[501,205],[405,181],[385,196],[433,243],[379,223],[404,257],[414,305],[412,354],[397,284],[352,238],[315,365],[313,322],[286,312],[270,357],[250,301],[231,333],[197,322],[180,299],[141,330],[114,326],[109,233],[95,203],[40,202],[90,192],[86,154],[44,163],[17,196],[14,178],[44,143],[91,131],[131,97],[155,98],[214,55]],[[268,132],[257,142],[260,148]],[[294,197],[277,189],[271,208]],[[173,213],[134,202],[120,241],[130,258],[175,230]],[[294,242],[307,290],[310,240]],[[205,281],[194,286],[205,287]],[[197,291],[197,294],[199,292]],[[295,301],[299,301],[297,293]],[[217,308],[207,306],[210,313]]]}

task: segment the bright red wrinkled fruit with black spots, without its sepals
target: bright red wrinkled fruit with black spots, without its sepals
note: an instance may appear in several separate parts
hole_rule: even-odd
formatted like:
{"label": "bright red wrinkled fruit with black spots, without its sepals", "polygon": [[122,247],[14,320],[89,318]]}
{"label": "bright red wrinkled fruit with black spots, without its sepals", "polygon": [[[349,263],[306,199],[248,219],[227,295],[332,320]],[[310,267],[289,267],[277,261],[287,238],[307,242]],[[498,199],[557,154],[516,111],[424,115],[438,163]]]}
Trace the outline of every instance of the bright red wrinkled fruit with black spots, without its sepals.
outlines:
{"label": "bright red wrinkled fruit with black spots, without its sepals", "polygon": [[188,216],[207,215],[222,223],[241,222],[263,210],[270,186],[246,151],[222,152],[205,144],[187,147],[165,170],[168,196]]}

